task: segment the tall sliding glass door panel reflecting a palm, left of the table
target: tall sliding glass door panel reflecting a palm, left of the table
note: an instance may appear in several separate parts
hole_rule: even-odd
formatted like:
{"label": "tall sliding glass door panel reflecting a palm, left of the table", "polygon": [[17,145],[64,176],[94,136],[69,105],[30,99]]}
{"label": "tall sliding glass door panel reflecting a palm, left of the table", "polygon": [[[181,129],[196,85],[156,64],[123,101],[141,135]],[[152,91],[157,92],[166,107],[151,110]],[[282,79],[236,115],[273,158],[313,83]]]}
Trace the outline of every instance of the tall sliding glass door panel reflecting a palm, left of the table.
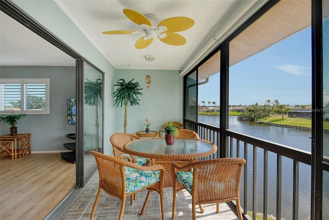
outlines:
{"label": "tall sliding glass door panel reflecting a palm, left of the table", "polygon": [[103,73],[77,59],[77,186],[83,187],[97,169],[90,151],[103,152]]}

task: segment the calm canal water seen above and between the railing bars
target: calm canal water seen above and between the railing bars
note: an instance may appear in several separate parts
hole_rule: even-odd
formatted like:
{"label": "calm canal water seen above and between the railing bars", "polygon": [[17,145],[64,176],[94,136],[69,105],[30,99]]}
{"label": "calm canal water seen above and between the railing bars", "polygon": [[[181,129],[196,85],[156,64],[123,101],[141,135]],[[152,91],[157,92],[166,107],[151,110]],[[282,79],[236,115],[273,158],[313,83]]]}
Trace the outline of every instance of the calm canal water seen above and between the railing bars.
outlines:
{"label": "calm canal water seen above and between the railing bars", "polygon": [[[198,115],[198,121],[219,127],[219,116]],[[267,141],[287,145],[297,149],[311,151],[310,130],[285,128],[277,126],[262,125],[254,122],[239,121],[237,116],[229,116],[229,129],[239,133],[266,139]],[[328,134],[324,134],[328,135]],[[325,139],[329,139],[325,137]],[[240,157],[244,157],[243,144],[240,144]],[[234,153],[236,155],[236,153]],[[263,154],[262,149],[257,151],[257,212],[263,213]],[[252,210],[252,146],[248,146],[248,207]],[[293,218],[293,160],[282,157],[282,209],[281,217]],[[276,215],[276,172],[277,155],[268,153],[268,214]],[[310,219],[310,173],[309,165],[299,163],[299,219]],[[243,184],[243,179],[242,179]],[[243,198],[243,194],[241,195]],[[243,200],[241,200],[243,206]]]}

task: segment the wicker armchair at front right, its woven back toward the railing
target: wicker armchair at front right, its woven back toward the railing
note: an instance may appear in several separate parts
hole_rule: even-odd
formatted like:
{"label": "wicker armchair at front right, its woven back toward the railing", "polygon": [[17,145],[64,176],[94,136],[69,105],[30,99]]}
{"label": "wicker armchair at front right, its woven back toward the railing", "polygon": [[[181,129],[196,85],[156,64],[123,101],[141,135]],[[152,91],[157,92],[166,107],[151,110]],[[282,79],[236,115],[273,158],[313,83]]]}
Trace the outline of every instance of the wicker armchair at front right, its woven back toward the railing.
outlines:
{"label": "wicker armchair at front right, its woven back toward the railing", "polygon": [[[216,203],[216,212],[220,212],[219,203],[233,200],[236,201],[237,214],[242,220],[240,180],[245,163],[243,158],[219,158],[198,161],[184,166],[172,164],[172,218],[175,217],[176,195],[182,185],[192,195],[193,220],[196,219],[196,205],[199,205],[201,213],[204,213],[203,204]],[[189,171],[191,169],[193,171]]]}

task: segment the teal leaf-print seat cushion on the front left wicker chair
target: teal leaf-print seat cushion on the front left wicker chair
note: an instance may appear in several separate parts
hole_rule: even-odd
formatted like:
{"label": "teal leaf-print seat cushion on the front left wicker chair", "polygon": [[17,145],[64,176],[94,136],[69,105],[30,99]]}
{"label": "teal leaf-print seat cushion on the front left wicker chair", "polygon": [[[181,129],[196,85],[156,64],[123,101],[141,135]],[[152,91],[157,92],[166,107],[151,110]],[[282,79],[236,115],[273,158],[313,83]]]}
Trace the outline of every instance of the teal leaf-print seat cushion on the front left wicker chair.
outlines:
{"label": "teal leaf-print seat cushion on the front left wicker chair", "polygon": [[145,171],[131,167],[124,168],[125,191],[132,193],[160,181],[160,171]]}

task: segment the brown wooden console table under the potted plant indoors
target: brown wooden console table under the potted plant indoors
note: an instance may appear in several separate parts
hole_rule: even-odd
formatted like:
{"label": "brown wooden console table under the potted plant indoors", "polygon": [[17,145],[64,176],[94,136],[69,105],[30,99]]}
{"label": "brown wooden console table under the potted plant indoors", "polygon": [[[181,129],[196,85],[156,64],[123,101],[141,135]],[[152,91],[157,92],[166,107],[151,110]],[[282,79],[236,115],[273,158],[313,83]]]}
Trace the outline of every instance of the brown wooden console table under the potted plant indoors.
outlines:
{"label": "brown wooden console table under the potted plant indoors", "polygon": [[[15,136],[10,134],[1,135],[0,145],[2,146],[0,154],[12,155],[12,158],[16,158],[17,155],[21,157],[21,155],[31,153],[31,133],[16,134]],[[10,150],[11,153],[9,153]]]}

